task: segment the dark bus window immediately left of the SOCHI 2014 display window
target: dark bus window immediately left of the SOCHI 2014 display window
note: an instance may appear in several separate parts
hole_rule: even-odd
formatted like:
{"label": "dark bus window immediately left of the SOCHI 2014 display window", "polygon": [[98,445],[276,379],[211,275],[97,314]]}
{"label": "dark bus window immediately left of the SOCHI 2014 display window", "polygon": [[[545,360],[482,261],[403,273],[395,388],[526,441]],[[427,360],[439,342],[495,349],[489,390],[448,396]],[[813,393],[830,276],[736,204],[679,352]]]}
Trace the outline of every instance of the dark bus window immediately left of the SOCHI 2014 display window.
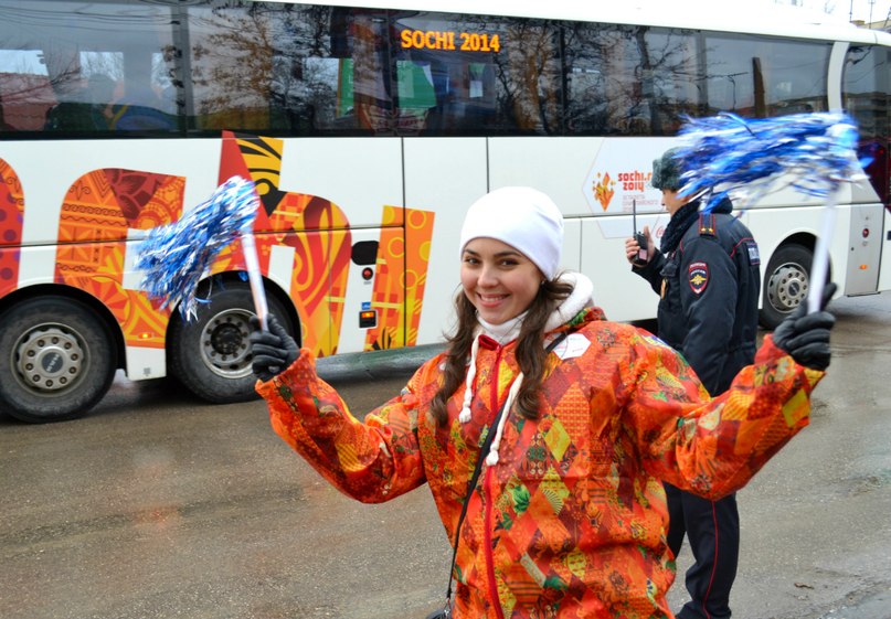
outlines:
{"label": "dark bus window immediately left of the SOCHI 2014 display window", "polygon": [[190,7],[190,126],[391,132],[384,15],[273,2]]}

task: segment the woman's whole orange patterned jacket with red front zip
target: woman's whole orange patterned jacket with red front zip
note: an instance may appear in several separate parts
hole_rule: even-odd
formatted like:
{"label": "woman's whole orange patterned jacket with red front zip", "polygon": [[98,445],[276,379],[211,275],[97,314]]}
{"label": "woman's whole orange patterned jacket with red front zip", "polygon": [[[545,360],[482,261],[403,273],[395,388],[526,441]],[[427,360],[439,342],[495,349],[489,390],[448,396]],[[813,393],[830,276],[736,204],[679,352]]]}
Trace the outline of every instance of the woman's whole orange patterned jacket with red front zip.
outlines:
{"label": "woman's whole orange patterned jacket with red front zip", "polygon": [[[711,399],[681,356],[646,331],[588,308],[558,331],[541,416],[508,417],[460,531],[456,619],[665,619],[675,578],[661,481],[709,498],[745,484],[808,423],[823,372],[765,338],[754,365]],[[340,491],[363,502],[429,485],[449,541],[488,425],[519,372],[515,343],[481,342],[471,404],[464,387],[437,428],[427,405],[443,355],[401,395],[353,418],[311,354],[257,391],[275,431]]]}

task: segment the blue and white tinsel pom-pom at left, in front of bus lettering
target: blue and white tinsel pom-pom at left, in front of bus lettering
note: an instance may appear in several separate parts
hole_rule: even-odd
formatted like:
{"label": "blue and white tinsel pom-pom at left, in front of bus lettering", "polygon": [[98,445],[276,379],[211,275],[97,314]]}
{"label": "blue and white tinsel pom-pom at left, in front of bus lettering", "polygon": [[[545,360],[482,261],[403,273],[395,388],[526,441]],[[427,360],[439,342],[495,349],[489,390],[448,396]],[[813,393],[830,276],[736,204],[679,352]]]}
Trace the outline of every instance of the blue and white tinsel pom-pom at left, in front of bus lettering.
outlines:
{"label": "blue and white tinsel pom-pom at left, in front of bus lettering", "polygon": [[258,206],[254,183],[232,177],[179,221],[149,231],[135,263],[145,271],[140,288],[161,309],[179,307],[187,320],[197,317],[198,284],[226,246],[245,236],[253,241]]}

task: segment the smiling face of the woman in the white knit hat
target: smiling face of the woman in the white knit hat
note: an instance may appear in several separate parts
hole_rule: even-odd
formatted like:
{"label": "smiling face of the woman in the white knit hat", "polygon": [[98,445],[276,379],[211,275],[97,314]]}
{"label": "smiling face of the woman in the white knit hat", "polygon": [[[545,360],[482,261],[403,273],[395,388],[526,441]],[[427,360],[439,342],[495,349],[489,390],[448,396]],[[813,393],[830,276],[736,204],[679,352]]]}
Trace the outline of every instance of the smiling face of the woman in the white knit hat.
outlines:
{"label": "smiling face of the woman in the white knit hat", "polygon": [[544,276],[523,254],[495,238],[473,238],[462,254],[462,286],[479,317],[501,324],[524,312]]}

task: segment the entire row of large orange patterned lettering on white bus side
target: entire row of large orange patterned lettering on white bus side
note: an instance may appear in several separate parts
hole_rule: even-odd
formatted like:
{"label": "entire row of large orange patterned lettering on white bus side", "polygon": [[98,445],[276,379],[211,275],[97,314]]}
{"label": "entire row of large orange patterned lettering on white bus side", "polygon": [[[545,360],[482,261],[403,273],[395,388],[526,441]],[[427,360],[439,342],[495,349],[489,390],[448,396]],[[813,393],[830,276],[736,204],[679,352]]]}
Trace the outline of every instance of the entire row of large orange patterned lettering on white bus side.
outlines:
{"label": "entire row of large orange patterned lettering on white bus side", "polygon": [[[287,294],[300,320],[303,344],[317,356],[327,356],[337,353],[340,340],[352,234],[347,215],[329,200],[278,189],[283,146],[274,138],[224,131],[219,179],[222,183],[240,174],[255,182],[262,202],[255,223],[261,269],[268,275],[273,246],[294,249]],[[21,188],[8,166],[0,171],[4,192],[0,232],[19,243]],[[95,170],[71,185],[62,204],[55,281],[104,302],[121,324],[127,345],[163,348],[169,321],[169,312],[159,311],[142,291],[123,286],[128,231],[177,221],[184,189],[183,177]],[[379,319],[367,332],[365,350],[415,344],[429,263],[432,212],[384,206],[382,217],[371,299]],[[0,258],[4,287],[0,290],[6,294],[18,285],[19,257],[8,252]],[[221,253],[211,271],[244,269],[241,245],[235,243]]]}

